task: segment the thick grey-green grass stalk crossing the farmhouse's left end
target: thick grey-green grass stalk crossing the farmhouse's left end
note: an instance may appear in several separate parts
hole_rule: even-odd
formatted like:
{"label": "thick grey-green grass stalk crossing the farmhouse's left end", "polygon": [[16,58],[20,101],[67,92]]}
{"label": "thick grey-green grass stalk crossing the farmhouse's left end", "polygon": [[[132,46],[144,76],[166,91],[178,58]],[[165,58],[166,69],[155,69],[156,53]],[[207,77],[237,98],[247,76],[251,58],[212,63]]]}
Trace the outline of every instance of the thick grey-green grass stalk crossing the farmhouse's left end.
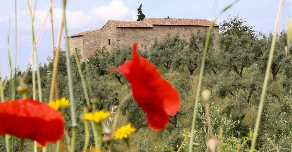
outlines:
{"label": "thick grey-green grass stalk crossing the farmhouse's left end", "polygon": [[73,94],[73,83],[72,83],[72,74],[71,74],[71,61],[69,54],[69,41],[68,41],[68,31],[66,23],[66,0],[62,0],[63,5],[63,22],[64,22],[64,31],[65,31],[65,50],[66,50],[66,62],[67,62],[67,76],[68,76],[68,86],[69,86],[69,98],[71,102],[71,118],[72,118],[72,137],[71,137],[71,148],[70,151],[75,151],[75,141],[76,141],[76,108],[74,103],[74,94]]}

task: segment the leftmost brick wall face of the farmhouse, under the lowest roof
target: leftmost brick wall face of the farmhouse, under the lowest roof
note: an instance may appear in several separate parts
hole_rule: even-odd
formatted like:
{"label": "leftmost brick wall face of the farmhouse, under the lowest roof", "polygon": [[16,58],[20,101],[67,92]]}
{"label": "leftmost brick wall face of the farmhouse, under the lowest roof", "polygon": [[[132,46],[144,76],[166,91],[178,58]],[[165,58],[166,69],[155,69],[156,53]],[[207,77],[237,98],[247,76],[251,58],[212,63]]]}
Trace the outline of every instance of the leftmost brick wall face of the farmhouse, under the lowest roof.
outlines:
{"label": "leftmost brick wall face of the farmhouse, under the lowest roof", "polygon": [[[70,51],[70,56],[73,55],[73,51],[75,50],[75,48],[77,48],[77,50],[79,51],[79,54],[81,55],[81,57],[83,57],[83,36],[79,36],[79,37],[72,37],[69,38],[69,51]],[[80,59],[80,61],[83,61],[83,58]]]}

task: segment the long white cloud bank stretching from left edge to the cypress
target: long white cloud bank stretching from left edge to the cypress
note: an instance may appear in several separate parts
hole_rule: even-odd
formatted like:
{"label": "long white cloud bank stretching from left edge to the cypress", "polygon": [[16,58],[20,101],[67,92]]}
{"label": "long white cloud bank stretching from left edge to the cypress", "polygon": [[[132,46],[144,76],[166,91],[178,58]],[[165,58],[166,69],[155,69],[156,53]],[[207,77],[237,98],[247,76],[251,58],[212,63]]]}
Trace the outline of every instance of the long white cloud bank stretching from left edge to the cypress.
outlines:
{"label": "long white cloud bank stretching from left edge to the cypress", "polygon": [[[44,18],[46,16],[47,10],[36,10],[34,16],[34,28],[36,33],[41,27]],[[17,24],[18,28],[31,30],[31,23],[29,17],[29,11],[18,11]],[[112,0],[108,6],[93,7],[90,11],[81,10],[66,10],[67,26],[69,29],[78,29],[82,27],[94,26],[100,22],[105,22],[107,20],[135,20],[136,12],[131,10],[128,6],[125,6],[121,0]],[[62,18],[62,9],[53,9],[53,21],[54,28],[59,28],[60,21]],[[0,24],[8,23],[9,15],[0,14]],[[14,14],[11,14],[12,26],[14,24]],[[50,16],[45,25],[45,29],[51,28]]]}

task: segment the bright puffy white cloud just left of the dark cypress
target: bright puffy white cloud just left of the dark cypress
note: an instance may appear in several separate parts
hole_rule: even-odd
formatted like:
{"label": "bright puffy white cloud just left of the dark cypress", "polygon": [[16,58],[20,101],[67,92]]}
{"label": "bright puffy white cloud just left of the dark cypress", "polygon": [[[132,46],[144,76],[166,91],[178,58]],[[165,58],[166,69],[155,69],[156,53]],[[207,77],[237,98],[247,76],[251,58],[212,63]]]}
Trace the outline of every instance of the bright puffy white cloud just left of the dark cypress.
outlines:
{"label": "bright puffy white cloud just left of the dark cypress", "polygon": [[108,6],[94,7],[91,13],[103,20],[135,20],[136,14],[121,0],[113,0]]}

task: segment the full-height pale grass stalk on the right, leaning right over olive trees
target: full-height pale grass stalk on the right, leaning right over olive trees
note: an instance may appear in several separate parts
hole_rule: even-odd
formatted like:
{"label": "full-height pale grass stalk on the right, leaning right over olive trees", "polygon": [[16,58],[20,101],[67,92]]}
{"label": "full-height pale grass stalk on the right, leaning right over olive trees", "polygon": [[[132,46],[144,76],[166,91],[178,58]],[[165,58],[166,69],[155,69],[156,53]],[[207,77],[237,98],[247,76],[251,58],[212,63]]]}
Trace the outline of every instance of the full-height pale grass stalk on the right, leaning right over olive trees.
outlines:
{"label": "full-height pale grass stalk on the right, leaning right over olive trees", "polygon": [[260,104],[259,104],[259,107],[258,107],[256,125],[255,125],[255,128],[254,128],[253,139],[251,141],[251,149],[250,149],[251,152],[253,152],[255,147],[256,147],[256,139],[257,139],[257,136],[258,136],[258,129],[259,129],[259,126],[260,126],[260,118],[261,118],[261,115],[262,115],[264,101],[265,101],[265,97],[266,97],[266,93],[267,93],[267,84],[268,84],[268,80],[269,80],[269,76],[270,76],[270,71],[271,71],[271,66],[272,66],[272,61],[273,61],[273,56],[274,56],[274,50],[275,50],[275,45],[276,45],[276,40],[277,40],[277,37],[278,37],[278,29],[279,29],[279,23],[280,23],[281,13],[282,13],[282,9],[283,9],[283,4],[284,4],[284,0],[281,0],[280,4],[279,4],[279,10],[278,10],[278,15],[277,15],[276,25],[275,25],[275,29],[274,29],[274,35],[273,35],[273,39],[272,39],[270,55],[269,55],[268,64],[267,64],[267,68],[266,68],[262,94],[261,94],[261,97],[260,97]]}

